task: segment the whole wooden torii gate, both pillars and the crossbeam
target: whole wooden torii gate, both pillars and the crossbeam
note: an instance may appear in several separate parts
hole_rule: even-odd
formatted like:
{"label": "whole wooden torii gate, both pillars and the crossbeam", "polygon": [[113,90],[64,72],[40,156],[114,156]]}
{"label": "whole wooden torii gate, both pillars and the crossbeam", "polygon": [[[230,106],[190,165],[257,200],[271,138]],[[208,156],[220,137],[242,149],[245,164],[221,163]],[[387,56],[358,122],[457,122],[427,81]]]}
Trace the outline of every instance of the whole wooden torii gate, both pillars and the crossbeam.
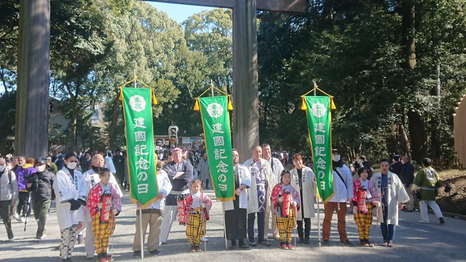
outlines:
{"label": "whole wooden torii gate, both pillars and the crossbeam", "polygon": [[[306,11],[306,0],[151,0],[233,9],[233,146],[244,155],[259,144],[256,11]],[[16,155],[48,150],[50,0],[20,0]],[[44,121],[37,121],[44,119]],[[27,138],[27,140],[26,140]],[[244,158],[246,159],[246,158]]]}

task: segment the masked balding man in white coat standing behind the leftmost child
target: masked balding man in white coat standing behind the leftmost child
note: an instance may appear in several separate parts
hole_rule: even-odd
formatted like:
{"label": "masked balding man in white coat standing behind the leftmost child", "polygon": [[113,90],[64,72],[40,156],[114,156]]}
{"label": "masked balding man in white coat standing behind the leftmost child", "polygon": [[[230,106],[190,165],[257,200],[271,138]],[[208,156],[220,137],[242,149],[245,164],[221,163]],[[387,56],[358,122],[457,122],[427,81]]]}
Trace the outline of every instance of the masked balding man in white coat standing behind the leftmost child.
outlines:
{"label": "masked balding man in white coat standing behind the leftmost child", "polygon": [[[102,155],[93,155],[91,160],[92,168],[83,173],[83,176],[86,179],[88,194],[91,188],[95,184],[100,182],[99,172],[103,169],[104,161],[105,160],[103,159]],[[118,185],[118,182],[116,181],[115,176],[112,172],[110,172],[110,183],[112,183],[116,187],[118,195],[120,195],[120,197],[123,197],[123,193],[121,192],[120,186]],[[94,233],[92,232],[92,217],[91,213],[89,213],[89,210],[86,209],[86,211],[86,237],[84,241],[84,247],[86,249],[86,258],[93,259],[96,249],[94,247]]]}

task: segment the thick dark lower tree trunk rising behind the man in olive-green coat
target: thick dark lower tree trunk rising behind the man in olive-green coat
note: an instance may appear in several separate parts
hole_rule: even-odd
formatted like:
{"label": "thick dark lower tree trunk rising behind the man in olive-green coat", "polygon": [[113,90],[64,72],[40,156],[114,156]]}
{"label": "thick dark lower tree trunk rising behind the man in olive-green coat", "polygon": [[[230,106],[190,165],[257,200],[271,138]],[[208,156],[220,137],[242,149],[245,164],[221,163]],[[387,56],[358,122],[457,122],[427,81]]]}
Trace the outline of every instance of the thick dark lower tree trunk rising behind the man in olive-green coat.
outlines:
{"label": "thick dark lower tree trunk rising behind the man in olive-green coat", "polygon": [[427,157],[427,132],[425,122],[417,111],[408,111],[409,134],[411,137],[412,159],[418,164]]}

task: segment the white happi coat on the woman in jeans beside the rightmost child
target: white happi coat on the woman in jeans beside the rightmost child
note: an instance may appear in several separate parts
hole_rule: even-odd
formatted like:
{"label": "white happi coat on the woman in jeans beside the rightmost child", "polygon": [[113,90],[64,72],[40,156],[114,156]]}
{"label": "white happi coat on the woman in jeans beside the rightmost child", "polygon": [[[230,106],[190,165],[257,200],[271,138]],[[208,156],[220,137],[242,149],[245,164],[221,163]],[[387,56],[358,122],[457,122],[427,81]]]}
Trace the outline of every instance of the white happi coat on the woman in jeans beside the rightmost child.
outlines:
{"label": "white happi coat on the woman in jeans beside the rightmost child", "polygon": [[[387,201],[388,201],[388,213],[387,213],[387,224],[391,225],[398,225],[398,204],[399,203],[404,203],[409,201],[409,196],[408,193],[406,193],[406,190],[404,189],[403,183],[401,183],[401,180],[399,180],[398,176],[395,173],[392,173],[388,171],[388,196],[387,196]],[[377,193],[379,194],[380,197],[380,203],[382,208],[382,193],[381,193],[381,177],[382,173],[377,172],[374,175],[372,175],[372,178],[370,181],[372,184],[375,186],[377,189]],[[379,211],[379,213],[381,213]],[[379,215],[379,220],[382,219],[383,222],[383,217],[380,217]]]}

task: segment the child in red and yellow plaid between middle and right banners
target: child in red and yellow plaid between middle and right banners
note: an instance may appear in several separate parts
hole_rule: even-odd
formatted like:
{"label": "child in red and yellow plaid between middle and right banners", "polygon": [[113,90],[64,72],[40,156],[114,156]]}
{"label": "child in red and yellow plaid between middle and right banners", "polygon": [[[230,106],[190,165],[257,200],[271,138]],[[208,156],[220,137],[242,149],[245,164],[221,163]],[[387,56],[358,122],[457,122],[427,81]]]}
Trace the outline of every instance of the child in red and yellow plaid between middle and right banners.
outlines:
{"label": "child in red and yellow plaid between middle and right banners", "polygon": [[276,215],[275,223],[279,229],[282,249],[293,249],[291,231],[295,227],[296,214],[301,205],[300,193],[290,182],[290,171],[285,169],[280,175],[280,183],[272,189],[271,194],[272,212]]}

